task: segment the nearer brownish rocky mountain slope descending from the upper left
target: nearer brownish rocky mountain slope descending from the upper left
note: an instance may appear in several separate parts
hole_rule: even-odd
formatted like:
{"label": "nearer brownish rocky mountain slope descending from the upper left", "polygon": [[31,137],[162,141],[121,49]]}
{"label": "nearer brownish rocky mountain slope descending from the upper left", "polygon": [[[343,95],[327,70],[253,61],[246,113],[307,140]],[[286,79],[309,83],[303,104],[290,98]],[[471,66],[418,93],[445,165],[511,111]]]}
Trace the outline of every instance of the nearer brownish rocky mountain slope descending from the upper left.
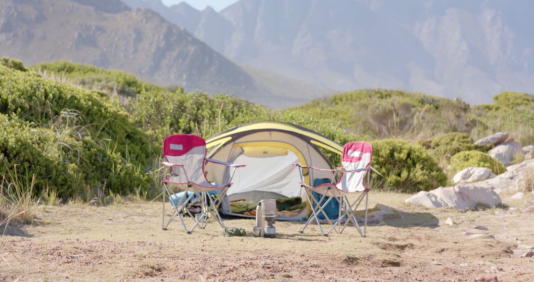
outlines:
{"label": "nearer brownish rocky mountain slope descending from the upper left", "polygon": [[229,93],[275,107],[332,92],[310,87],[324,91],[300,89],[285,99],[273,85],[265,84],[268,78],[255,73],[254,79],[183,27],[118,0],[4,0],[0,54],[26,65],[66,60],[122,69],[162,85]]}

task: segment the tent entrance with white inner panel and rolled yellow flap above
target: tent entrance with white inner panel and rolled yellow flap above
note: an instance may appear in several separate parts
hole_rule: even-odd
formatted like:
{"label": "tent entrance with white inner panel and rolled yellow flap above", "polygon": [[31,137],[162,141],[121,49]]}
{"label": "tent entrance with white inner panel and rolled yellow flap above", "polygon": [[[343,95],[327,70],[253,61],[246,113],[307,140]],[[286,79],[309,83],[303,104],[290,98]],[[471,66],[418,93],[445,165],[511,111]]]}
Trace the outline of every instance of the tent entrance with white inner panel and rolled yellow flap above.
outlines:
{"label": "tent entrance with white inner panel and rolled yellow flap above", "polygon": [[271,141],[236,143],[232,156],[234,163],[246,167],[234,176],[232,188],[227,193],[231,207],[238,206],[240,203],[233,201],[239,200],[257,203],[263,199],[300,197],[304,203],[301,206],[280,204],[279,207],[287,209],[280,210],[279,216],[295,216],[307,210],[305,191],[299,185],[299,169],[292,166],[293,163],[306,165],[306,161],[294,146]]}

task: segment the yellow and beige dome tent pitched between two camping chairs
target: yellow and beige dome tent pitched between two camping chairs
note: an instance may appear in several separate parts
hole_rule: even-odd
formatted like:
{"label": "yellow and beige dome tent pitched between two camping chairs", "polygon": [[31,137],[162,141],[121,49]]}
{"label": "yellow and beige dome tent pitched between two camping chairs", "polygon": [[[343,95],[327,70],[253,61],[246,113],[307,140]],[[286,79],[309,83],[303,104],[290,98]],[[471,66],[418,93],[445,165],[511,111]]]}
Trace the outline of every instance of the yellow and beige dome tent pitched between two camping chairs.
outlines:
{"label": "yellow and beige dome tent pitched between two camping chairs", "polygon": [[[292,166],[333,168],[322,148],[337,154],[342,146],[307,128],[295,124],[263,121],[233,127],[206,140],[207,157],[226,162],[246,165],[233,178],[233,185],[223,200],[221,211],[226,215],[246,216],[232,213],[230,201],[246,199],[258,202],[262,199],[301,197],[306,202],[305,191],[301,189],[299,169]],[[206,177],[211,182],[224,183],[229,171],[223,166],[208,163]],[[318,178],[332,178],[331,171],[305,171],[304,182],[312,185]],[[301,220],[307,218],[309,206],[297,212],[278,216],[277,220]]]}

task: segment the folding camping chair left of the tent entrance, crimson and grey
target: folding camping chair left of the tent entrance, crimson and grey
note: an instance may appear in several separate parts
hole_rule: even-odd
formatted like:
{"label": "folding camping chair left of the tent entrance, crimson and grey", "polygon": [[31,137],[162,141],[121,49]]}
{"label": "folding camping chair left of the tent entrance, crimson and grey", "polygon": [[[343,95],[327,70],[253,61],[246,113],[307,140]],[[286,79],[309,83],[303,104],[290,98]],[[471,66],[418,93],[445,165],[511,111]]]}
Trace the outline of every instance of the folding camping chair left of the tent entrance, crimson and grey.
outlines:
{"label": "folding camping chair left of the tent entrance, crimson and grey", "polygon": [[[221,215],[219,215],[218,207],[226,195],[226,192],[232,185],[231,181],[235,173],[235,169],[238,167],[244,167],[244,165],[234,165],[233,163],[227,163],[222,161],[216,161],[206,158],[206,140],[200,136],[189,134],[175,134],[167,136],[163,140],[163,158],[162,165],[169,168],[169,176],[162,181],[163,183],[163,220],[162,228],[167,230],[167,226],[176,217],[182,222],[185,232],[191,234],[193,229],[200,224],[200,228],[205,228],[208,223],[210,215],[221,224],[223,230],[225,226]],[[232,168],[230,179],[227,183],[217,185],[210,183],[206,179],[204,173],[204,164],[206,161],[223,165],[228,168]],[[167,170],[166,170],[167,171]],[[172,199],[173,194],[169,189],[169,186],[173,185],[183,190],[183,197],[179,201]],[[213,192],[218,192],[215,199],[210,197]],[[211,193],[210,193],[211,192]],[[171,218],[165,224],[165,194],[168,195],[172,208],[175,212]],[[200,199],[201,215],[200,217],[193,216],[186,206],[193,198]],[[187,230],[180,211],[185,210],[185,213],[196,219],[193,227]]]}

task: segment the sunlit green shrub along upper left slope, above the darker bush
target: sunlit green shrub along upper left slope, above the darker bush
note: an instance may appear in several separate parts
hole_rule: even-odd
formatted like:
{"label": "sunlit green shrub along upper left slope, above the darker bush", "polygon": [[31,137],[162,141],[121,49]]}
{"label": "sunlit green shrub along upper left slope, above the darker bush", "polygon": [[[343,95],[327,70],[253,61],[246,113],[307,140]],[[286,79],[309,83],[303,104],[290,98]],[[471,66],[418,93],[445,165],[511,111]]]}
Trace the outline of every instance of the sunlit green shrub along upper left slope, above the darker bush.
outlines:
{"label": "sunlit green shrub along upper left slope, above the darker bush", "polygon": [[145,132],[120,105],[111,103],[102,92],[40,79],[0,66],[0,113],[48,127],[54,117],[75,112],[80,126],[95,138],[107,140],[123,158],[148,164],[150,145]]}

